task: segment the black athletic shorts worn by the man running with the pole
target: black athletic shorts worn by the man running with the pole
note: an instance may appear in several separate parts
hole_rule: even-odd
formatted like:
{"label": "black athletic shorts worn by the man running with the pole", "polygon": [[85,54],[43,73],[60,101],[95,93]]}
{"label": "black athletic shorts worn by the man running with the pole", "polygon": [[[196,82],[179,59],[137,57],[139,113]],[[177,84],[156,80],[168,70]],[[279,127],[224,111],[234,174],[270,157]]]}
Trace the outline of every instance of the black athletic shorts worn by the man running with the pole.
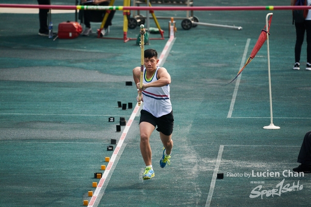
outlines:
{"label": "black athletic shorts worn by the man running with the pole", "polygon": [[162,132],[163,134],[167,136],[173,133],[173,127],[174,127],[173,111],[171,111],[170,113],[166,115],[155,117],[148,111],[141,110],[139,124],[141,122],[148,122],[155,127],[157,126],[156,130]]}

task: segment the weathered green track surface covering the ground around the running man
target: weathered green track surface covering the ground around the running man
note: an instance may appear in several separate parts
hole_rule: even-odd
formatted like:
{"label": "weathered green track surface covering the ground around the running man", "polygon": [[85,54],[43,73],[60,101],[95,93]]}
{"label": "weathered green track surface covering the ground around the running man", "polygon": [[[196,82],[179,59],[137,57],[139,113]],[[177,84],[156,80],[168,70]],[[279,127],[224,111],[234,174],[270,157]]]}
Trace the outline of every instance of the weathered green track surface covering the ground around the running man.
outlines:
{"label": "weathered green track surface covering the ground around the running man", "polygon": [[[52,4],[74,5],[74,0]],[[115,5],[122,4],[122,0],[115,1]],[[263,6],[289,2],[195,0],[193,4]],[[266,44],[244,69],[228,118],[236,81],[225,84],[244,64],[247,40],[246,58],[255,46],[268,11],[194,11],[200,22],[243,29],[198,25],[186,31],[176,19],[176,39],[163,64],[172,77],[175,122],[171,165],[159,167],[162,144],[155,131],[150,140],[155,177],[142,180],[145,166],[139,150],[139,116],[135,117],[98,207],[310,206],[310,175],[282,175],[284,170],[298,166],[300,145],[311,130],[311,72],[304,68],[306,43],[301,69],[295,71],[292,12],[271,12],[273,122],[280,129],[262,128],[270,124]],[[145,12],[141,14],[145,16]],[[155,15],[186,18],[186,12]],[[107,165],[104,158],[113,153],[106,146],[111,145],[110,139],[118,143],[121,137],[116,132],[119,118],[128,120],[133,112],[118,108],[117,102],[136,104],[136,87],[126,86],[125,81],[133,81],[132,69],[140,65],[140,48],[136,40],[123,42],[121,11],[116,12],[107,36],[121,39],[96,38],[94,33],[53,41],[38,36],[37,14],[0,13],[0,19],[0,206],[82,206],[83,200],[90,200],[87,192],[95,191],[92,182],[99,181],[93,174],[104,172],[100,170],[101,165]],[[60,22],[74,19],[73,13],[52,14],[54,32]],[[168,40],[168,22],[159,19],[165,40],[150,40],[145,48],[161,53]],[[150,26],[155,27],[152,19]],[[92,27],[96,31],[100,23],[92,23]],[[139,27],[129,30],[127,36],[136,38],[138,34]],[[108,122],[109,117],[116,121]],[[217,161],[218,173],[224,173],[224,179],[213,184]],[[255,175],[280,172],[280,176],[244,176],[252,171]],[[284,185],[297,185],[299,181],[303,188],[249,197],[257,186],[262,185],[261,191],[276,189],[283,179]]]}

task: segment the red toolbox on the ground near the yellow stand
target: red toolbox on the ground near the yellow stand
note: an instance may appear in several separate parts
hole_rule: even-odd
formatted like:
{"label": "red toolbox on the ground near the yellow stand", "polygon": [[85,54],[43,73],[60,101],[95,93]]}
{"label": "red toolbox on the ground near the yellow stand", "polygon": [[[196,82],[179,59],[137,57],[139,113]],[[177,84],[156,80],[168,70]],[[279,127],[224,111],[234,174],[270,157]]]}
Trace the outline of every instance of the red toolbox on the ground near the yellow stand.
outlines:
{"label": "red toolbox on the ground near the yellow stand", "polygon": [[82,32],[82,27],[78,22],[61,22],[58,25],[58,38],[73,39],[79,36]]}

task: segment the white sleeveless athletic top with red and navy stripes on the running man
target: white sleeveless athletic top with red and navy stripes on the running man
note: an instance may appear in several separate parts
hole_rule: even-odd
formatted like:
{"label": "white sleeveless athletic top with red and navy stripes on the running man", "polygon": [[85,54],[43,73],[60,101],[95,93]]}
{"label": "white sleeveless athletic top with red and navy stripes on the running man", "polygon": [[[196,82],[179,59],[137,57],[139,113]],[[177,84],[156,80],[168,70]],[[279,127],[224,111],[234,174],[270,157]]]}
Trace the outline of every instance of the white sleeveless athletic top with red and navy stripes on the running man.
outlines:
{"label": "white sleeveless athletic top with red and navy stripes on the running man", "polygon": [[[144,68],[143,83],[150,83],[157,80],[156,75],[160,67],[156,67],[155,74],[151,80],[146,80],[146,68]],[[172,111],[170,100],[170,85],[162,87],[150,87],[142,91],[144,105],[143,110],[148,111],[155,117],[166,115]]]}

